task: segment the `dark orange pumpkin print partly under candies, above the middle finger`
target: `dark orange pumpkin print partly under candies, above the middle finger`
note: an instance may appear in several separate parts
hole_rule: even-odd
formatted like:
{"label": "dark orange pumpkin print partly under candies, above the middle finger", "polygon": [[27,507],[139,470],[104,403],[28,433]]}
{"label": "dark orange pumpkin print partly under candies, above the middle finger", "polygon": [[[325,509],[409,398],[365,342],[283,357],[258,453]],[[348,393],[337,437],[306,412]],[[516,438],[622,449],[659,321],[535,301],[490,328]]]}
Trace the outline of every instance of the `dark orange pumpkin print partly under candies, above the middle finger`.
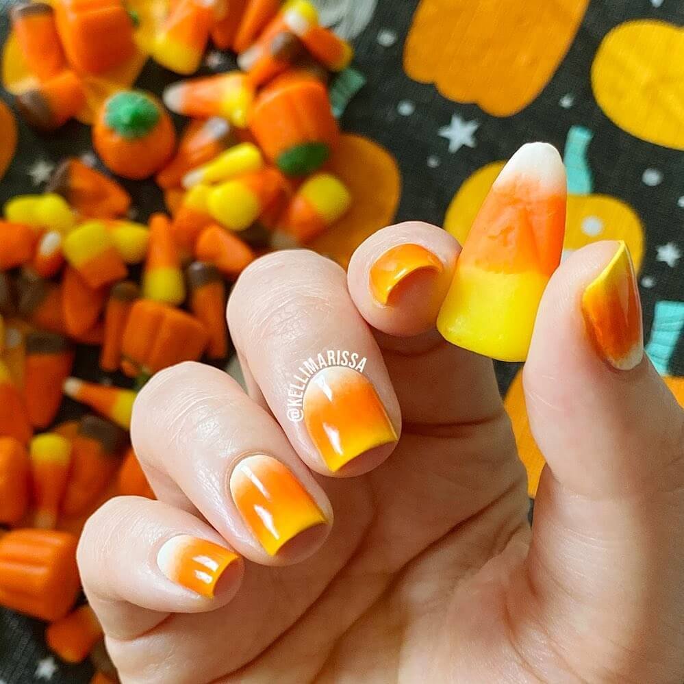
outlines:
{"label": "dark orange pumpkin print partly under candies, above the middle finger", "polygon": [[349,188],[353,201],[349,212],[307,246],[346,268],[359,244],[392,223],[401,195],[401,175],[387,150],[351,134],[342,135],[326,168]]}

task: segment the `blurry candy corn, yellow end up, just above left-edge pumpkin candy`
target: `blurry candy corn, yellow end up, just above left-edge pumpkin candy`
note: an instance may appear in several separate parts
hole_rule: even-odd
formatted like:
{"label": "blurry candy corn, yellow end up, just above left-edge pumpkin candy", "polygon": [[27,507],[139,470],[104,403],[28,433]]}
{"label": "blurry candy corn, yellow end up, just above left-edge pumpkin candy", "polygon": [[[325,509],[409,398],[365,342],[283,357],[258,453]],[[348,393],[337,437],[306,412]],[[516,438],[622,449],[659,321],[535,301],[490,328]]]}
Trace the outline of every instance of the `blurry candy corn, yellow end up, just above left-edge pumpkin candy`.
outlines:
{"label": "blurry candy corn, yellow end up, just above left-edge pumpkin candy", "polygon": [[36,435],[29,446],[31,482],[36,506],[34,527],[54,529],[71,465],[71,442],[62,435]]}

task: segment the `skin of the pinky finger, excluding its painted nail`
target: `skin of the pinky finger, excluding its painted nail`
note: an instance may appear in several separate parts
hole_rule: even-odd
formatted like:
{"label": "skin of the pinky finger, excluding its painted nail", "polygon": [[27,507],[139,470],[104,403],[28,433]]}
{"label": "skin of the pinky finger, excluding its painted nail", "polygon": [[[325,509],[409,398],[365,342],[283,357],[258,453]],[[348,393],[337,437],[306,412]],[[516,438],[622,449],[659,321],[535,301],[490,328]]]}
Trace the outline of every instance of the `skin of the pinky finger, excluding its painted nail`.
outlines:
{"label": "skin of the pinky finger, excluding its painted nail", "polygon": [[214,598],[201,596],[164,575],[157,564],[160,548],[177,535],[190,535],[226,548],[205,522],[160,501],[118,496],[90,516],[79,540],[77,560],[90,605],[105,632],[131,638],[168,613],[203,613],[230,602],[242,581],[238,559],[227,572],[230,582],[216,585]]}

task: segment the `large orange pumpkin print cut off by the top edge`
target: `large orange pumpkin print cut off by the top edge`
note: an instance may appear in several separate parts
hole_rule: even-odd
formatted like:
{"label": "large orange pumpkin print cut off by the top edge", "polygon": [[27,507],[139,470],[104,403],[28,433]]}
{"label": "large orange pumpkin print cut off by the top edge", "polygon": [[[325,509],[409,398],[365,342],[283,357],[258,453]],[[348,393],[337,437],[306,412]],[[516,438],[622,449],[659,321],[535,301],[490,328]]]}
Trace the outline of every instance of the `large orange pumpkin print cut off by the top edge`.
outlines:
{"label": "large orange pumpkin print cut off by the top edge", "polygon": [[570,48],[589,0],[422,0],[404,69],[492,116],[527,107]]}

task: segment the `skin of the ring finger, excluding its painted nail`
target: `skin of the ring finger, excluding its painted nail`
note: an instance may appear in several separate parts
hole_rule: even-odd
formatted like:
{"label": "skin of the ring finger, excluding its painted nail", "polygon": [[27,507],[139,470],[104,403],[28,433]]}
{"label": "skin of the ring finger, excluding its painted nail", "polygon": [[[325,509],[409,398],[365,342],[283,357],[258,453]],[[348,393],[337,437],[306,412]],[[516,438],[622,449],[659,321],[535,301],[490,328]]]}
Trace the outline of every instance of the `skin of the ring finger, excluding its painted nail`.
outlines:
{"label": "skin of the ring finger, excluding its painted nail", "polygon": [[[212,366],[186,362],[157,373],[136,398],[131,439],[145,468],[170,477],[230,546],[257,563],[299,561],[329,532],[329,500],[283,431],[236,381]],[[253,454],[285,464],[328,521],[294,557],[266,553],[229,491],[233,466]]]}

